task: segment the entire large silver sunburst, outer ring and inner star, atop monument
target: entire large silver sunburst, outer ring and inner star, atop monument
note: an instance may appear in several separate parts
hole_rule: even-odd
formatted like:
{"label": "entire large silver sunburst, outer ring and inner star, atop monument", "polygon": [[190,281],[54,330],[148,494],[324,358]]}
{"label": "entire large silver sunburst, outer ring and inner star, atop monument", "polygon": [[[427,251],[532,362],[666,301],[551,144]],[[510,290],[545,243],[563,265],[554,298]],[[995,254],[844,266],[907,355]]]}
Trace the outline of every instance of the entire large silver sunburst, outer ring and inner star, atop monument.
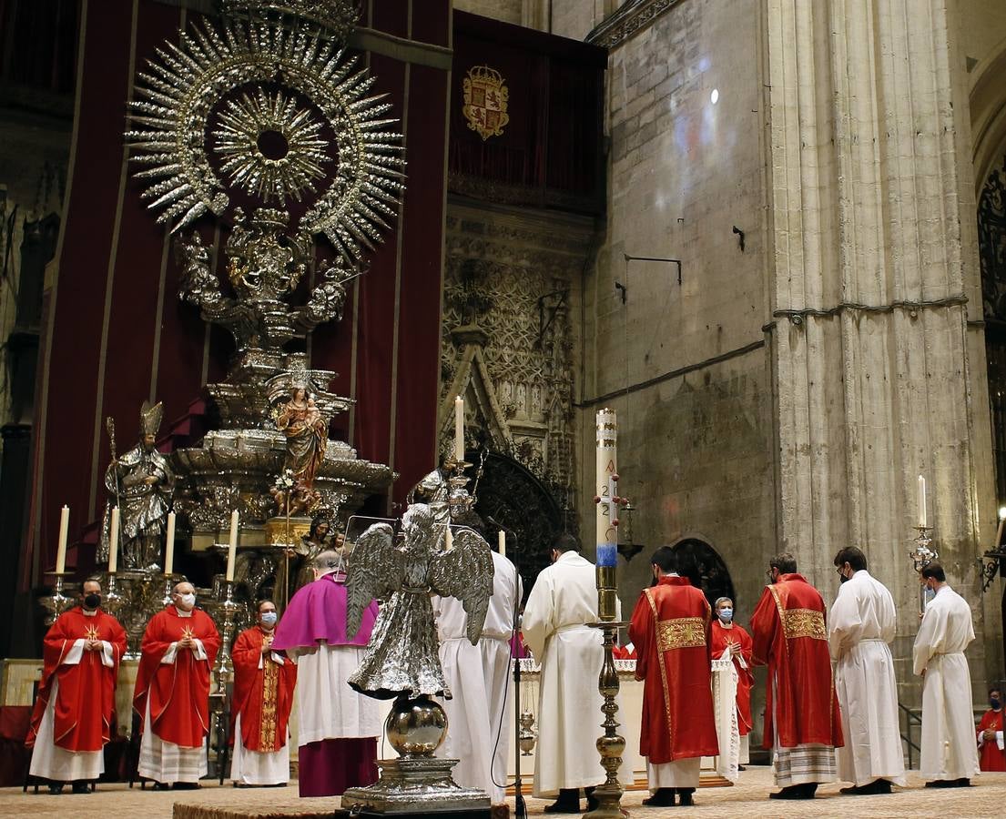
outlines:
{"label": "entire large silver sunburst, outer ring and inner star, atop monument", "polygon": [[295,226],[352,262],[380,240],[404,190],[404,149],[355,58],[306,25],[233,18],[220,31],[193,25],[157,55],[138,74],[126,140],[158,221],[176,231],[220,215],[237,188],[303,201]]}

